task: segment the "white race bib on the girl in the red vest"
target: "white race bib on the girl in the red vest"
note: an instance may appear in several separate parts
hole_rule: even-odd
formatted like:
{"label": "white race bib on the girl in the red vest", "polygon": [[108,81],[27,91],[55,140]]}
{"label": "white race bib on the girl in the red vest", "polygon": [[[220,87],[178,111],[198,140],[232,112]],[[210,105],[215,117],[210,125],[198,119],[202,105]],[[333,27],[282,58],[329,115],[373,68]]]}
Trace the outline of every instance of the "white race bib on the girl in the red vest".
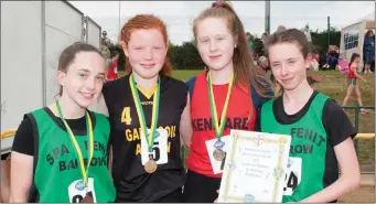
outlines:
{"label": "white race bib on the girl in the red vest", "polygon": [[[223,136],[221,138],[221,141],[225,142],[225,146],[222,148],[222,150],[225,151],[226,154],[227,154],[227,152],[229,150],[228,143],[230,142],[230,139],[232,139],[232,137],[229,137],[229,136]],[[213,152],[215,150],[214,143],[218,139],[215,138],[215,139],[212,139],[212,140],[207,140],[205,142],[207,154],[208,154],[208,158],[211,159],[211,164],[212,164],[212,169],[213,169],[214,174],[223,172],[223,170],[225,168],[225,161],[226,161],[226,157],[222,161],[217,161],[217,160],[214,159],[214,155],[213,155]]]}

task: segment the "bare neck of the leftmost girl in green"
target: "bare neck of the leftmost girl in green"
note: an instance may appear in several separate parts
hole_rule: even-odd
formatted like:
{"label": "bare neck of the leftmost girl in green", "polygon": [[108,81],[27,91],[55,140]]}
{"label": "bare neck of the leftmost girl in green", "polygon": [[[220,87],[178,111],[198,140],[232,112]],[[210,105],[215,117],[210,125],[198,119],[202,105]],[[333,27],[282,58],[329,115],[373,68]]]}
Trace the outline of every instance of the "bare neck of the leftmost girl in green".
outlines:
{"label": "bare neck of the leftmost girl in green", "polygon": [[[80,107],[67,95],[63,94],[63,96],[58,99],[58,104],[64,119],[78,119],[85,116],[86,108]],[[60,117],[58,112],[55,112],[55,115]]]}

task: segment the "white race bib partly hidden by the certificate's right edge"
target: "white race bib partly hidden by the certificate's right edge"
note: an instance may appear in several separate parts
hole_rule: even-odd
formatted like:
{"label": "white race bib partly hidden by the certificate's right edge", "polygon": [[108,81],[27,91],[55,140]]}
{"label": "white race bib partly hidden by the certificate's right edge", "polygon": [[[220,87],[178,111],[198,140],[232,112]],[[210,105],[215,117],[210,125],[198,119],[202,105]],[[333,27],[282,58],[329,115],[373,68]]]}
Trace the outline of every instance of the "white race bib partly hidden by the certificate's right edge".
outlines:
{"label": "white race bib partly hidden by the certificate's right edge", "polygon": [[302,159],[289,157],[284,176],[283,195],[292,195],[302,178]]}

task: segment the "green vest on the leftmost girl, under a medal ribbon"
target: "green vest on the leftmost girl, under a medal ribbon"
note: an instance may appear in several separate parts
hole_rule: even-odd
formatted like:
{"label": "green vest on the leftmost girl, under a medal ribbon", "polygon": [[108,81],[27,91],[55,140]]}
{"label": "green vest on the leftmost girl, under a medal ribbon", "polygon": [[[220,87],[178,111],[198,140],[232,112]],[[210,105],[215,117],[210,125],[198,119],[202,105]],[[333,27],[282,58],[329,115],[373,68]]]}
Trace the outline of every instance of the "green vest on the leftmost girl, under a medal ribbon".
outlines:
{"label": "green vest on the leftmost girl, under a medal ribbon", "polygon": [[[83,200],[83,182],[78,157],[68,133],[62,129],[44,110],[31,115],[37,128],[37,163],[34,171],[34,185],[39,203],[78,203]],[[88,169],[89,191],[94,201],[106,203],[115,201],[115,186],[108,172],[109,122],[100,114],[95,117],[94,153]],[[92,121],[94,120],[92,117]],[[33,126],[35,126],[33,125]],[[34,127],[35,129],[35,127]],[[75,136],[83,152],[85,168],[88,160],[88,137]],[[35,164],[34,164],[35,165]]]}

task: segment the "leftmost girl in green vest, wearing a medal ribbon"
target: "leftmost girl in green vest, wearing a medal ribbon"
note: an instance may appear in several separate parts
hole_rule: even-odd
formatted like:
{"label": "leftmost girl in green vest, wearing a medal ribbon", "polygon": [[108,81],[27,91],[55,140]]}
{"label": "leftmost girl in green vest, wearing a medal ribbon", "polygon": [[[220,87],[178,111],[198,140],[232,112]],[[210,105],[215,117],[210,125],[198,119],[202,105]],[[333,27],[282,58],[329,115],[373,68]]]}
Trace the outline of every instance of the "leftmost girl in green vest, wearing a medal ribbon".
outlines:
{"label": "leftmost girl in green vest, wearing a medal ribbon", "polygon": [[105,79],[100,51],[86,43],[66,47],[57,79],[58,100],[26,114],[15,133],[10,202],[114,202],[107,167],[109,122],[87,110]]}

